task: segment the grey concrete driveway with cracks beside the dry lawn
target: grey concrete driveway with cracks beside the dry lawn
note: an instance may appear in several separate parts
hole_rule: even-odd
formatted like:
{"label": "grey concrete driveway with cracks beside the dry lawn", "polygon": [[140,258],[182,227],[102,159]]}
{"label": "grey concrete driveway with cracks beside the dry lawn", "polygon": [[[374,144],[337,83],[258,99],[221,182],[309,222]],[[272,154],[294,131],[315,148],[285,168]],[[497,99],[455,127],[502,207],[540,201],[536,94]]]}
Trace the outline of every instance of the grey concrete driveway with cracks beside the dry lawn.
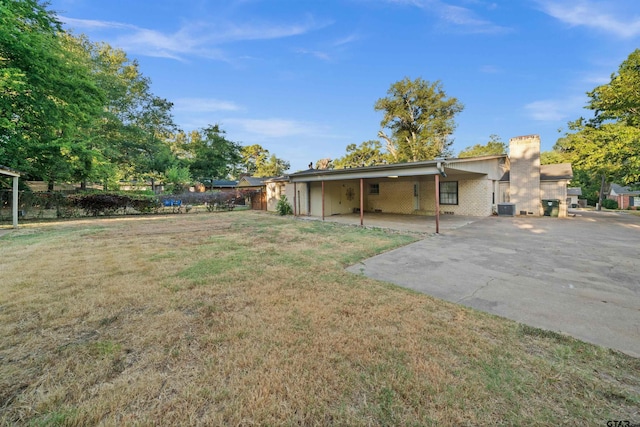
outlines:
{"label": "grey concrete driveway with cracks beside the dry lawn", "polygon": [[640,357],[640,217],[490,217],[349,267]]}

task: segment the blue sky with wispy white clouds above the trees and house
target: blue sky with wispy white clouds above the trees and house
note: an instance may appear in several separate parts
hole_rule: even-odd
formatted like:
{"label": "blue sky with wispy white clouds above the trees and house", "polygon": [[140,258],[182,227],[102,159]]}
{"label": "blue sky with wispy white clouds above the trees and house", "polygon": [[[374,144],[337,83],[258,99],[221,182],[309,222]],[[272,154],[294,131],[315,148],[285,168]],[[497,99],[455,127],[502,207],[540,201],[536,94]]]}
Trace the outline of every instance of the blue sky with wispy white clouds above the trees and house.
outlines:
{"label": "blue sky with wispy white clouds above the trees and house", "polygon": [[291,162],[377,139],[373,109],[409,77],[465,109],[453,149],[591,116],[586,92],[640,47],[638,0],[53,0],[65,27],[124,49],[184,130]]}

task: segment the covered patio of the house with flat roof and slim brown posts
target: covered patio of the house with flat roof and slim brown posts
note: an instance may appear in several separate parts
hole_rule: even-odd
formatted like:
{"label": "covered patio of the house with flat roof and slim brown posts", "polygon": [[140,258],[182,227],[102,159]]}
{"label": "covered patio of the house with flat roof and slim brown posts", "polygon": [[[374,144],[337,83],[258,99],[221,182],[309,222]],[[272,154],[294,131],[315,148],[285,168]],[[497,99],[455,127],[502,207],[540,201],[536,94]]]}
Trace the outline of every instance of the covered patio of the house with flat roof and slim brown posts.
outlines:
{"label": "covered patio of the house with flat roof and slim brown posts", "polygon": [[377,226],[377,220],[385,218],[396,227],[411,224],[411,228],[439,233],[441,220],[451,223],[447,217],[464,222],[465,217],[492,214],[500,201],[498,182],[507,160],[506,155],[496,155],[309,169],[289,175],[287,197],[296,216],[356,219],[361,226]]}

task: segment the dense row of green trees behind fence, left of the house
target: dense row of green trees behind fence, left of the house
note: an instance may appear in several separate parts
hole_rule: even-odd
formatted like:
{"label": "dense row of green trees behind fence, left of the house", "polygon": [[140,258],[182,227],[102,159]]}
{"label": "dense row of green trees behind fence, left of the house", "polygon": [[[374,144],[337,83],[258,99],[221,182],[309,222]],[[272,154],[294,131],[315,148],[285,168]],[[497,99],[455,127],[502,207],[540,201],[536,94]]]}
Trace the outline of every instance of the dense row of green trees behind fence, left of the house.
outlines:
{"label": "dense row of green trees behind fence, left of the house", "polygon": [[32,180],[180,185],[289,163],[219,125],[185,132],[136,60],[62,29],[38,0],[0,2],[0,164]]}

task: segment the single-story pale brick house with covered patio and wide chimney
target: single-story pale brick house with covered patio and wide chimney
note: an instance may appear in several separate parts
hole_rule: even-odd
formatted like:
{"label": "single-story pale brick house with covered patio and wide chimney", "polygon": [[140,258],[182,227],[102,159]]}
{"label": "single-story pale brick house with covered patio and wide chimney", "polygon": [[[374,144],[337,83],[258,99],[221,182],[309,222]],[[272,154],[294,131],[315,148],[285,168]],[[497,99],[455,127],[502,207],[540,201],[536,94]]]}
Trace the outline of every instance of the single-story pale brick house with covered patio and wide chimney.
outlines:
{"label": "single-story pale brick house with covered patio and wide chimney", "polygon": [[506,154],[350,169],[309,169],[289,176],[296,215],[354,212],[489,216],[500,203],[519,215],[543,215],[543,199],[567,215],[570,164],[540,166],[538,135],[512,138]]}

